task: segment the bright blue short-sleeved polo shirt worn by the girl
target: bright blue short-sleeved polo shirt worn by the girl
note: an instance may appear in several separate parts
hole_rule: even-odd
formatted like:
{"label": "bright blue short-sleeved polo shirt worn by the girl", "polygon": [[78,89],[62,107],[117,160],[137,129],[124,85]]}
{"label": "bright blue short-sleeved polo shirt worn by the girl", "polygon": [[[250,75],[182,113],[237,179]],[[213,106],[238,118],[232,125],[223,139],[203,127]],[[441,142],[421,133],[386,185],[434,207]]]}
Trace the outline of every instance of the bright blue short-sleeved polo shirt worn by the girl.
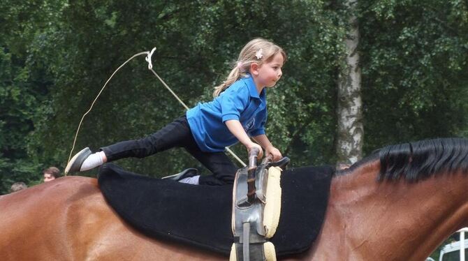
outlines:
{"label": "bright blue short-sleeved polo shirt worn by the girl", "polygon": [[224,151],[239,140],[224,123],[237,119],[249,137],[265,134],[267,120],[265,88],[258,95],[251,75],[234,82],[208,103],[187,111],[187,120],[198,147],[206,152]]}

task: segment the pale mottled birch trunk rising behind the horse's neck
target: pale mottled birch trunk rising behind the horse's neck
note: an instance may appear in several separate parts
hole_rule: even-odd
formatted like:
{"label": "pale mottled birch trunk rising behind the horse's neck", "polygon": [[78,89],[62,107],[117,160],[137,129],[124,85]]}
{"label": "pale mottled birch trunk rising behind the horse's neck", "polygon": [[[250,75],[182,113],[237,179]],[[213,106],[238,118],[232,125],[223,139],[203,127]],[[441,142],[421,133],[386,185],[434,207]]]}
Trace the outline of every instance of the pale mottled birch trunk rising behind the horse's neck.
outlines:
{"label": "pale mottled birch trunk rising behind the horse's neck", "polygon": [[337,106],[337,164],[352,164],[363,154],[363,103],[360,94],[361,72],[359,68],[358,19],[354,15],[357,0],[349,0],[349,32],[346,37],[346,66],[338,77]]}

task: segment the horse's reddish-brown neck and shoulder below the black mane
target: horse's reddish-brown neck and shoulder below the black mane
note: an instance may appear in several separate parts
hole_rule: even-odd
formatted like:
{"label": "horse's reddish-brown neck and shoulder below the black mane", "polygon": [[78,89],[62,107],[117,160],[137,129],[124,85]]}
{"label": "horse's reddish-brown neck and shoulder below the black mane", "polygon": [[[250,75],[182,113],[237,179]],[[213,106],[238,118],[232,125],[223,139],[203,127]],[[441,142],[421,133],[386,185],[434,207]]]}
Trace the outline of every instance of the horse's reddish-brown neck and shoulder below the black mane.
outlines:
{"label": "horse's reddish-brown neck and shoulder below the black mane", "polygon": [[313,260],[424,260],[467,225],[467,174],[378,182],[379,167],[372,163],[332,180]]}

